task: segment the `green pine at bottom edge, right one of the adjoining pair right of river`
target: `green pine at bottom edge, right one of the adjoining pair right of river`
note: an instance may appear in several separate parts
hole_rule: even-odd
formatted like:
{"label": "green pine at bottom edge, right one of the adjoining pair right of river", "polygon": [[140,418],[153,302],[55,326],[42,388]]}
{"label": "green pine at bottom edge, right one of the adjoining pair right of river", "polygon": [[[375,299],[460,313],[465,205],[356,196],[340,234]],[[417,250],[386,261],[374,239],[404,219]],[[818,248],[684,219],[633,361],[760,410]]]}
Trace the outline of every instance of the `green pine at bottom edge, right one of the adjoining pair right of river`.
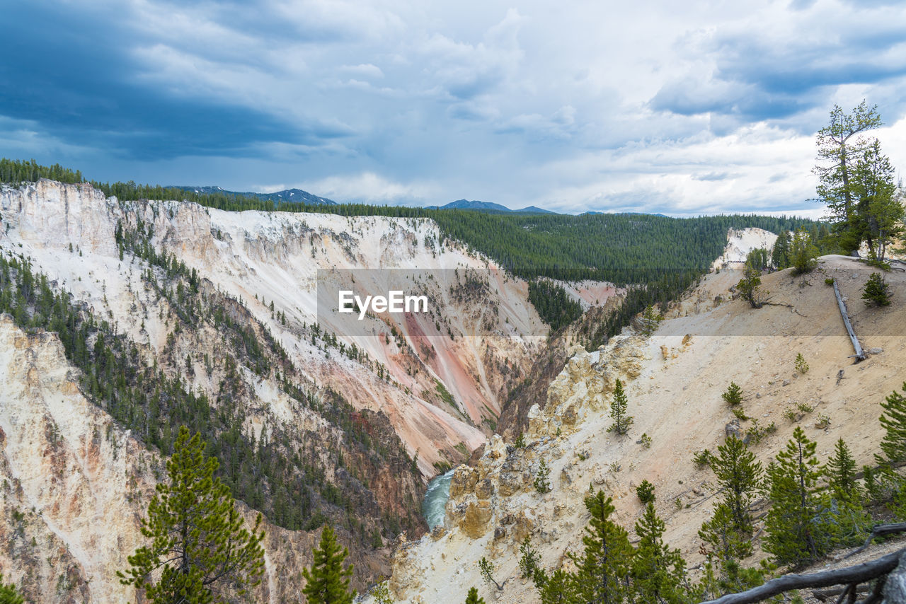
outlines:
{"label": "green pine at bottom edge, right one of the adjoining pair right of river", "polygon": [[641,602],[681,602],[686,580],[686,562],[679,550],[671,550],[663,542],[664,522],[654,510],[645,506],[645,513],[635,523],[639,545],[632,556],[632,587]]}

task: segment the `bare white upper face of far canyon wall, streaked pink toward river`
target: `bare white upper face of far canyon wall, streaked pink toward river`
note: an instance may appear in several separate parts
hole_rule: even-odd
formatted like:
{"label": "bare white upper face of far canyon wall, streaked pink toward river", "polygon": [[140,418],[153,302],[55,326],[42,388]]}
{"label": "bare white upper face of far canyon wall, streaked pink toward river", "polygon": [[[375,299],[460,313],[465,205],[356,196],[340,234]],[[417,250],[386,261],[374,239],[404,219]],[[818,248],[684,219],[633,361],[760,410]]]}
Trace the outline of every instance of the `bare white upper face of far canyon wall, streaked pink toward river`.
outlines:
{"label": "bare white upper face of far canyon wall, streaked pink toward river", "polygon": [[[425,339],[424,350],[414,350],[379,338],[358,340],[371,369],[337,362],[336,355],[327,358],[311,344],[303,325],[318,321],[313,303],[318,269],[486,268],[455,244],[439,249],[438,227],[428,219],[235,213],[178,201],[120,202],[90,185],[51,180],[0,186],[0,212],[4,231],[9,229],[0,233],[0,247],[31,256],[36,270],[118,323],[133,340],[160,350],[171,327],[156,321],[159,313],[153,311],[159,309],[149,308],[139,276],[147,266],[134,263],[129,251],[120,257],[115,237],[118,225],[129,229],[141,224],[156,251],[176,256],[202,280],[244,301],[250,315],[275,335],[313,382],[342,393],[357,408],[383,410],[409,454],[420,451],[419,468],[425,475],[433,473],[435,462],[463,461],[460,445],[469,450],[480,445],[485,435],[476,426],[496,414],[500,393],[527,370],[535,344],[544,340],[525,335],[544,331],[527,301],[525,283],[493,269],[494,287],[488,292],[500,309],[495,317],[525,337],[487,338],[472,346],[461,336],[474,333],[474,323],[487,319],[487,313],[472,302],[449,301],[458,309],[450,313],[458,317],[449,325],[455,341]],[[284,315],[287,321],[277,319]],[[425,321],[413,329],[434,328],[434,319]],[[379,379],[375,363],[392,379]],[[422,364],[430,370],[413,370]],[[457,401],[455,412],[435,395],[435,376]]]}

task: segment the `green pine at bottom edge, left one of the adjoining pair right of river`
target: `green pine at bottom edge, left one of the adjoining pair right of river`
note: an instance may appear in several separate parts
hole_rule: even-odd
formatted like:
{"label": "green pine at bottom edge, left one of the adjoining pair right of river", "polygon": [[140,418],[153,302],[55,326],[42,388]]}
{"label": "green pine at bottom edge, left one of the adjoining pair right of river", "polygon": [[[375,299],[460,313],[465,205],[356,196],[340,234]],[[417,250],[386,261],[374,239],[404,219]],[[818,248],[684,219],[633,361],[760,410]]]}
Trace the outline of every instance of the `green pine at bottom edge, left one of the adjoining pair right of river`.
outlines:
{"label": "green pine at bottom edge, left one of the adjoining pair right of river", "polygon": [[632,546],[626,530],[610,519],[614,507],[611,497],[602,491],[585,498],[585,507],[592,514],[585,527],[581,556],[569,557],[578,569],[575,590],[583,602],[616,604],[626,595],[632,559]]}

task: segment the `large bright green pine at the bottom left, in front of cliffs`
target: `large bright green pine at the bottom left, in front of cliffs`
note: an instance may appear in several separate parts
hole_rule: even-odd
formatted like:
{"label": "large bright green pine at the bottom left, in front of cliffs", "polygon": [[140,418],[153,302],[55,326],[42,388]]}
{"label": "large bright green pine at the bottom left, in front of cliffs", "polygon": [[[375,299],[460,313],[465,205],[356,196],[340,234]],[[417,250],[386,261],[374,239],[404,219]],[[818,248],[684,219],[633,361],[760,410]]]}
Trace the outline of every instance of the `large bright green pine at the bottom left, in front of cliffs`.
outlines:
{"label": "large bright green pine at the bottom left, in front of cliffs", "polygon": [[151,540],[129,557],[131,568],[118,572],[123,584],[145,590],[151,602],[204,604],[217,585],[236,586],[239,594],[261,582],[265,569],[258,514],[251,532],[244,527],[226,484],[214,476],[217,460],[204,455],[205,442],[179,427],[169,481],[158,484],[141,521]]}

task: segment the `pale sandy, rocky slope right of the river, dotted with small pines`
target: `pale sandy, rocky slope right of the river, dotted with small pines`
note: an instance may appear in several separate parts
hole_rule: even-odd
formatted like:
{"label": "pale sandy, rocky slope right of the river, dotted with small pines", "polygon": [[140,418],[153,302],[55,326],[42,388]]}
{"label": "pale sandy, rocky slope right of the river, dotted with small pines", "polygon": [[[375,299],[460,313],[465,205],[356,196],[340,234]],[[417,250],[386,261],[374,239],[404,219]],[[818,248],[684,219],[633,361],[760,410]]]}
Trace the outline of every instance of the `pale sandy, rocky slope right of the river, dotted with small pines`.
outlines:
{"label": "pale sandy, rocky slope right of the river, dotted with small pines", "polygon": [[[817,441],[822,462],[843,436],[856,462],[870,463],[882,434],[879,402],[901,388],[906,362],[902,307],[879,311],[859,300],[871,272],[852,259],[827,256],[805,277],[790,270],[766,275],[772,300],[785,305],[753,310],[732,300],[728,271],[721,271],[676,303],[674,318],[650,338],[627,334],[602,350],[576,351],[547,389],[545,406],[529,411],[524,448],[494,436],[474,467],[457,468],[444,527],[403,544],[395,555],[395,597],[455,602],[476,586],[486,599],[537,601],[532,583],[520,578],[522,540],[531,539],[545,568],[568,565],[565,553],[583,547],[589,488],[612,495],[616,521],[631,531],[642,512],[634,493],[642,480],[656,487],[665,541],[679,547],[695,574],[702,561],[698,530],[710,514],[715,483],[693,455],[713,451],[728,430],[757,435],[752,447],[764,463],[795,426]],[[833,291],[824,284],[828,276],[840,283],[855,331],[872,350],[858,365],[850,358],[852,345]],[[896,295],[906,295],[904,273],[887,279]],[[722,294],[724,302],[711,297],[696,312],[694,298],[706,291]],[[799,352],[810,365],[806,374],[795,370]],[[607,431],[618,378],[626,384],[634,417],[628,436]],[[743,406],[752,419],[735,419],[721,399],[730,380],[744,389]],[[803,412],[797,404],[813,410]],[[547,494],[533,485],[542,459],[551,470],[553,489]],[[481,579],[482,557],[494,563],[502,590]]]}

